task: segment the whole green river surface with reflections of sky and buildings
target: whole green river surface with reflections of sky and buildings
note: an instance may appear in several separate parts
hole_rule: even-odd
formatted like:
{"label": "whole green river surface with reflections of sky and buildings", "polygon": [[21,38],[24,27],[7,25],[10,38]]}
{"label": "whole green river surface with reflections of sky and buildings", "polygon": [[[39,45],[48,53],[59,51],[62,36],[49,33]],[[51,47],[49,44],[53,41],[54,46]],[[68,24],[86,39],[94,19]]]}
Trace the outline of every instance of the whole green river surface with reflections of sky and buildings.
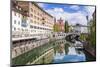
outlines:
{"label": "whole green river surface with reflections of sky and buildings", "polygon": [[51,64],[93,61],[84,50],[75,48],[75,43],[59,39],[48,42],[12,59],[13,65]]}

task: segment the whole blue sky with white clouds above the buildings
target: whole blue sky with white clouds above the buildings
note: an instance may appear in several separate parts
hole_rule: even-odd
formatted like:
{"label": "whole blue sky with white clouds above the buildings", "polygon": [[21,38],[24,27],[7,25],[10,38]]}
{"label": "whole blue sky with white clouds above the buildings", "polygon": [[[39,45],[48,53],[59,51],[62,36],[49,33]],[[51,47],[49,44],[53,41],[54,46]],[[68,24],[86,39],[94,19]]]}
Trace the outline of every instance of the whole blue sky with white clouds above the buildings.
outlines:
{"label": "whole blue sky with white clouds above the buildings", "polygon": [[95,6],[70,5],[70,4],[55,4],[55,3],[37,3],[43,10],[54,16],[56,19],[62,18],[68,21],[70,25],[76,23],[87,25],[88,21],[92,19],[92,14]]}

